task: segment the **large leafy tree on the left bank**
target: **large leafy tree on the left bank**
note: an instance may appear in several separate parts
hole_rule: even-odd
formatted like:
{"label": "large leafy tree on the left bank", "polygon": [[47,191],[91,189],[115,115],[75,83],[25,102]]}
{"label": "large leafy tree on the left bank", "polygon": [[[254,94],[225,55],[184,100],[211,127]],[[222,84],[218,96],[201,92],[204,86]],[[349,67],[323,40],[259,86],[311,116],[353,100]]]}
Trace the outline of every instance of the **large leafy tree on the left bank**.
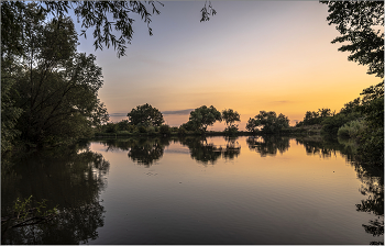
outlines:
{"label": "large leafy tree on the left bank", "polygon": [[23,54],[9,51],[1,64],[2,83],[9,86],[2,88],[2,107],[10,103],[2,108],[3,115],[10,115],[2,122],[3,142],[16,131],[22,141],[40,145],[90,136],[92,126],[108,121],[98,99],[102,72],[96,57],[76,53],[77,34],[69,18],[44,23],[46,12],[35,4],[24,11],[29,24],[23,27]]}

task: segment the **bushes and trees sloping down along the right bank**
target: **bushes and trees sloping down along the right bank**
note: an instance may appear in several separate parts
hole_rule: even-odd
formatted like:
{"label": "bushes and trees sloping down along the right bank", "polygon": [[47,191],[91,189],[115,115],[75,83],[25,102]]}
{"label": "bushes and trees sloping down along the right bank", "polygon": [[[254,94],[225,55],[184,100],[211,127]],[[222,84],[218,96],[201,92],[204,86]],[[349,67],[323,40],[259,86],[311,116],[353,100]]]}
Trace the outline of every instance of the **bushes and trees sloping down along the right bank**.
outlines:
{"label": "bushes and trees sloping down along the right bank", "polygon": [[307,111],[297,127],[319,125],[321,134],[352,138],[365,161],[384,165],[384,81],[364,89],[340,112],[330,109]]}

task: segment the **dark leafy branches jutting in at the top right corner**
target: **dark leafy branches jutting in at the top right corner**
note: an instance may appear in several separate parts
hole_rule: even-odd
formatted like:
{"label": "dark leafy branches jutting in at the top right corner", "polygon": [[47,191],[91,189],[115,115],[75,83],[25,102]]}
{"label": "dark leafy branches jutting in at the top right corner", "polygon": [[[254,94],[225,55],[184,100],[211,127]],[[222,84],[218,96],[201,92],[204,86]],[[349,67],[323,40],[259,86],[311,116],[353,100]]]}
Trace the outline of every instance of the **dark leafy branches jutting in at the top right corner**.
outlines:
{"label": "dark leafy branches jutting in at the top right corner", "polygon": [[336,24],[342,34],[331,43],[343,43],[338,51],[350,52],[349,60],[367,65],[367,74],[384,78],[384,1],[321,3],[329,7],[329,25]]}

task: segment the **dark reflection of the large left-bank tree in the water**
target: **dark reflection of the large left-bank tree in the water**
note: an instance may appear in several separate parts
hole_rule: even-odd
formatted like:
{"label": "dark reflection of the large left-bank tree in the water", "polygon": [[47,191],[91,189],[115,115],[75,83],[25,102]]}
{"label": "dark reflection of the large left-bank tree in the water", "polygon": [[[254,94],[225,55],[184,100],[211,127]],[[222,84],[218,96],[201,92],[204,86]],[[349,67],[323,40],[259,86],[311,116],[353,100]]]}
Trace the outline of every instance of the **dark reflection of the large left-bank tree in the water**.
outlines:
{"label": "dark reflection of the large left-bank tree in the water", "polygon": [[[36,152],[3,158],[1,214],[8,214],[16,198],[31,194],[47,199],[47,208],[59,213],[44,224],[7,230],[2,244],[85,244],[98,237],[105,209],[99,195],[107,187],[110,164],[88,146]],[[48,195],[48,197],[47,197]]]}

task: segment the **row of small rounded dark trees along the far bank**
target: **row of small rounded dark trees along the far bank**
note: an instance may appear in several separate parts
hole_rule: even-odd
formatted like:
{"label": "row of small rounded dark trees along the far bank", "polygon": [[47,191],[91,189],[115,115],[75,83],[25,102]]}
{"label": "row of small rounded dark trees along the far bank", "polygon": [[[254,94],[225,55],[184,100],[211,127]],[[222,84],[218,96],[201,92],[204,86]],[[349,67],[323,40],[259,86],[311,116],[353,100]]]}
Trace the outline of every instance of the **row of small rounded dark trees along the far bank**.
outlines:
{"label": "row of small rounded dark trees along the far bank", "polygon": [[[128,120],[117,123],[107,123],[100,127],[105,133],[136,133],[136,134],[163,134],[169,135],[176,132],[180,135],[186,134],[205,134],[208,126],[216,122],[224,122],[224,134],[237,134],[239,132],[240,114],[233,109],[224,109],[221,112],[213,105],[199,107],[190,112],[189,120],[179,127],[170,127],[164,124],[162,112],[145,103],[132,109],[127,115]],[[277,115],[274,111],[261,111],[253,119],[249,119],[246,130],[252,133],[279,133],[280,130],[289,126],[289,119],[284,114]]]}

